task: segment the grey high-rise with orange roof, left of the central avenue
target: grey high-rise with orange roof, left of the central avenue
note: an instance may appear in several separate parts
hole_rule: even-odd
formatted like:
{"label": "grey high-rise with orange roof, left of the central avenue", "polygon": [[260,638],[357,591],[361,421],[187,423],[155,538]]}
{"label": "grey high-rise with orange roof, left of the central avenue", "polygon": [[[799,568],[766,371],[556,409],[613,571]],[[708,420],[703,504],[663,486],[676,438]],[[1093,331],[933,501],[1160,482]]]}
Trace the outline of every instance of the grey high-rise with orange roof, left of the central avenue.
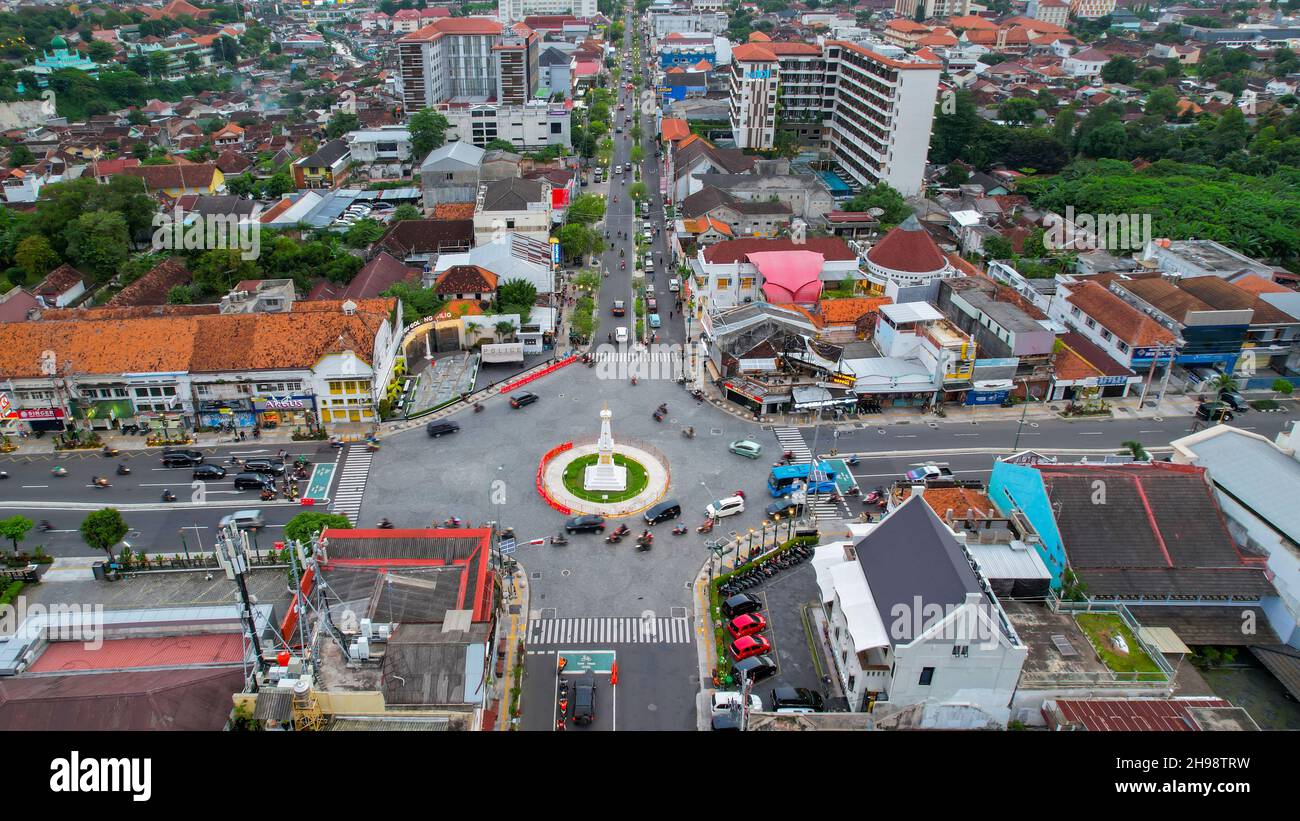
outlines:
{"label": "grey high-rise with orange roof, left of the central avenue", "polygon": [[[491,100],[499,92],[502,25],[485,17],[446,17],[398,40],[402,101],[413,112],[446,100]],[[517,36],[511,32],[511,36]],[[536,44],[532,57],[536,91]]]}

